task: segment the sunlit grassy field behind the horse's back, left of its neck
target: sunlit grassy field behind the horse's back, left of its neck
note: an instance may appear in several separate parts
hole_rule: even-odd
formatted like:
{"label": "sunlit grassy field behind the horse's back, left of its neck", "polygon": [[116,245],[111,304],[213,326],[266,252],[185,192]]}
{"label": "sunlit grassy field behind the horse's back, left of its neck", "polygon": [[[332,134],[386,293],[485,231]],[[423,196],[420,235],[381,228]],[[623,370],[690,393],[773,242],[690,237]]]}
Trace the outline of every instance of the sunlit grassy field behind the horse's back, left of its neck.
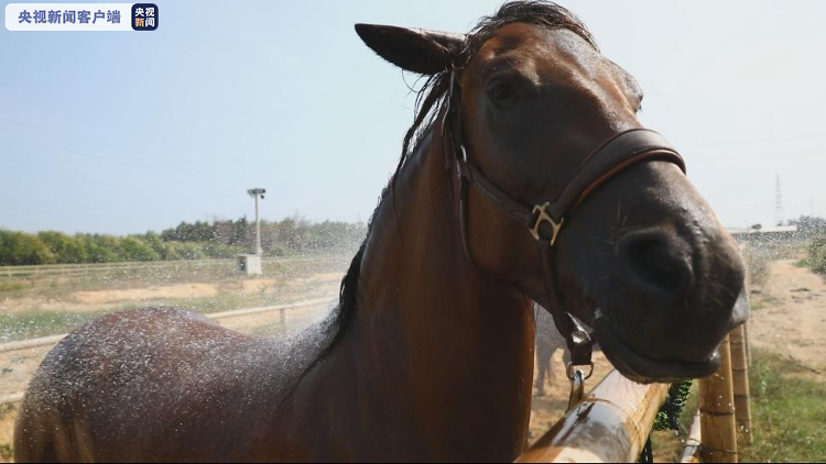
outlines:
{"label": "sunlit grassy field behind the horse's back, left of its neck", "polygon": [[105,313],[172,306],[210,313],[335,295],[350,256],[265,259],[242,278],[235,262],[41,275],[0,280],[0,343],[72,331]]}

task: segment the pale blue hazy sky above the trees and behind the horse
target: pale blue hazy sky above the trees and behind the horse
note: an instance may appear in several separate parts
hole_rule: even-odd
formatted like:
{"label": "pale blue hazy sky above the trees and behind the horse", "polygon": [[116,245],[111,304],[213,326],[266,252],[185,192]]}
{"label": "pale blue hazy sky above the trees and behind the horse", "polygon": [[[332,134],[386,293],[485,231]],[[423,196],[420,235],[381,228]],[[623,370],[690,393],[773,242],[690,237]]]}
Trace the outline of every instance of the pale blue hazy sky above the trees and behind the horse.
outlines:
{"label": "pale blue hazy sky above the trees and behind the horse", "polygon": [[[267,219],[366,220],[414,96],[352,24],[467,31],[500,1],[156,3],[151,33],[0,30],[0,228],[239,218],[258,186]],[[724,223],[772,222],[776,175],[786,218],[826,216],[826,2],[561,3]]]}

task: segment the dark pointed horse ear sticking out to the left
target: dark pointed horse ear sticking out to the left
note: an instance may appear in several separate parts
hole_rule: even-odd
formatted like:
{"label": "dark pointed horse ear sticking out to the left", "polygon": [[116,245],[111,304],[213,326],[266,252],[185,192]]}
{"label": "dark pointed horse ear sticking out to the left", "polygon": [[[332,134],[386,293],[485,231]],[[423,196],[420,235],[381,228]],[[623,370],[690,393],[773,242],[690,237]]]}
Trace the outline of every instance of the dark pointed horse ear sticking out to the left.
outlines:
{"label": "dark pointed horse ear sticking out to the left", "polygon": [[356,24],[356,33],[382,58],[419,74],[430,75],[449,69],[454,58],[465,47],[465,34],[449,32]]}

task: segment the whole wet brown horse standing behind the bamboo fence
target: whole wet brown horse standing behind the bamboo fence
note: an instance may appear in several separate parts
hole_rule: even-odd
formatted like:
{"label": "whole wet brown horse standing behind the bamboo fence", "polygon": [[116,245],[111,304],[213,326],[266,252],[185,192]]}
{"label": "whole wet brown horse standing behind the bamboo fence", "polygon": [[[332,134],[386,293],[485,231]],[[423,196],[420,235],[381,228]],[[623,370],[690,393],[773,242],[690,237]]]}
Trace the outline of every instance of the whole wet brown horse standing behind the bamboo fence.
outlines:
{"label": "whole wet brown horse standing behind the bamboo fence", "polygon": [[[513,2],[468,35],[357,32],[431,77],[338,307],[289,342],[170,309],[105,317],[44,361],[15,460],[510,461],[532,300],[591,325],[631,378],[714,372],[746,319],[737,247],[676,155],[629,132],[642,92],[574,15]],[[595,169],[556,227],[559,201],[543,203]]]}

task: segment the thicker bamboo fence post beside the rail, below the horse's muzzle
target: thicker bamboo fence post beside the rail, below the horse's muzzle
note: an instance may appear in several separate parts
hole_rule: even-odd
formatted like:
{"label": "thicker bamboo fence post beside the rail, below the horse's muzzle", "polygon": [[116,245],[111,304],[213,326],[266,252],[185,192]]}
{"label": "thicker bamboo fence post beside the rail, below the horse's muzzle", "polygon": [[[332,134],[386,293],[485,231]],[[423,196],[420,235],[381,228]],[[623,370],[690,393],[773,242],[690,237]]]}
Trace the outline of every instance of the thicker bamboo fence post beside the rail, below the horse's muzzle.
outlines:
{"label": "thicker bamboo fence post beside the rail, below the horse's muzzle", "polygon": [[704,463],[737,463],[737,423],[729,338],[720,343],[720,368],[699,382]]}

